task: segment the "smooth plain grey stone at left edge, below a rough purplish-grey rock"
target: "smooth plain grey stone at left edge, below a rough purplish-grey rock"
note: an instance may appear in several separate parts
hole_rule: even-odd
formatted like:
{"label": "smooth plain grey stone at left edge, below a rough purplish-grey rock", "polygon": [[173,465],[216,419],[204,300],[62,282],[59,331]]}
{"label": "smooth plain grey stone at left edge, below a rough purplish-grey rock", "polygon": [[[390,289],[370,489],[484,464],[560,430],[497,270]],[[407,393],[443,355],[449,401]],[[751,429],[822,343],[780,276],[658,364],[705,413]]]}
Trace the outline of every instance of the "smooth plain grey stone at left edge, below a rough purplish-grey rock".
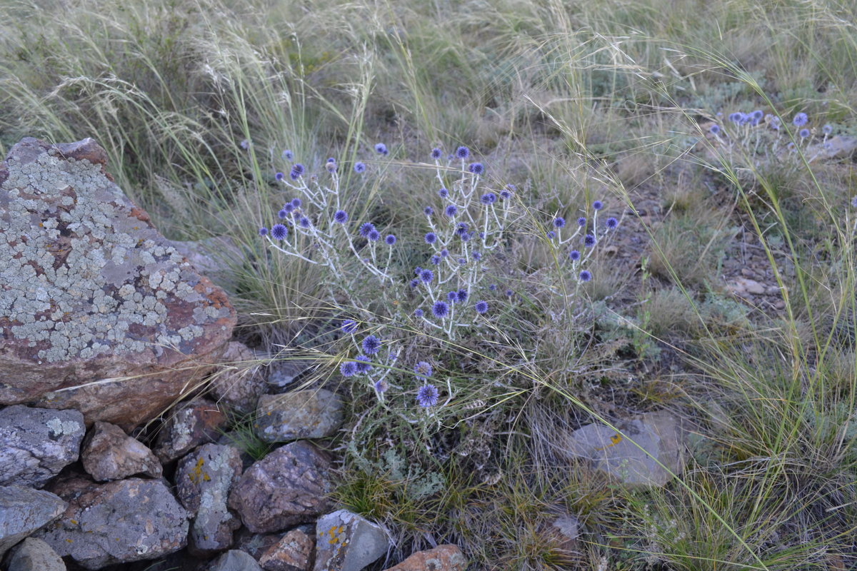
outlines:
{"label": "smooth plain grey stone at left edge, below a rough purplish-grey rock", "polygon": [[49,491],[20,485],[0,487],[0,557],[10,547],[57,520],[66,503]]}

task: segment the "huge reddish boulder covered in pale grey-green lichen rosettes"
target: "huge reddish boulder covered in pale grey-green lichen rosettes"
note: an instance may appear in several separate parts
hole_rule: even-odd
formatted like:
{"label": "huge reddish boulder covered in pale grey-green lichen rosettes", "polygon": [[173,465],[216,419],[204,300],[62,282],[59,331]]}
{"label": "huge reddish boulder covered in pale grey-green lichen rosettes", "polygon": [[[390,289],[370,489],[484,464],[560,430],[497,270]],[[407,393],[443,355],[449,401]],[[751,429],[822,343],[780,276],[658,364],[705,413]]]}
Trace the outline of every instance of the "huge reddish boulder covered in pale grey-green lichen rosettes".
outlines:
{"label": "huge reddish boulder covered in pale grey-green lichen rosettes", "polygon": [[236,313],[105,164],[29,137],[0,164],[0,404],[129,430],[210,370]]}

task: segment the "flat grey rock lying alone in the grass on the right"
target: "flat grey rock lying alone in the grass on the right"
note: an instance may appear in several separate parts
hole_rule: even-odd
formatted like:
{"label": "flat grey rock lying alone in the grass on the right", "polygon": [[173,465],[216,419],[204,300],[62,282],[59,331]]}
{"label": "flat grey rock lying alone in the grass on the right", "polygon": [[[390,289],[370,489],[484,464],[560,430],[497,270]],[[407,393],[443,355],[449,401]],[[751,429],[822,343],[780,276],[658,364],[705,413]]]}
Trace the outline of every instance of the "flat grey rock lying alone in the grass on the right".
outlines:
{"label": "flat grey rock lying alone in the grass on the right", "polygon": [[617,428],[620,432],[606,425],[585,425],[566,435],[566,453],[589,459],[627,485],[662,486],[672,478],[670,472],[680,473],[684,433],[672,415],[646,413]]}

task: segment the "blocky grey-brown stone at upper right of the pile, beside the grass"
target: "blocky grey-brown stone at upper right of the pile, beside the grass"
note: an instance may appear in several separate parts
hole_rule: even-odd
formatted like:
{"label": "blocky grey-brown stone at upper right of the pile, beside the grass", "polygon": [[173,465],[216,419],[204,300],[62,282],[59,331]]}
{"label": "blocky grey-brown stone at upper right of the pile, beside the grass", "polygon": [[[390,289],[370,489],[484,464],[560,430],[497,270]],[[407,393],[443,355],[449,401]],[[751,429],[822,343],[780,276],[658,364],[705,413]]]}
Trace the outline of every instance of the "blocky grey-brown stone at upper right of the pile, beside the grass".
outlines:
{"label": "blocky grey-brown stone at upper right of the pile, beside the grass", "polygon": [[253,429],[264,442],[331,436],[342,425],[342,399],[324,389],[262,395]]}

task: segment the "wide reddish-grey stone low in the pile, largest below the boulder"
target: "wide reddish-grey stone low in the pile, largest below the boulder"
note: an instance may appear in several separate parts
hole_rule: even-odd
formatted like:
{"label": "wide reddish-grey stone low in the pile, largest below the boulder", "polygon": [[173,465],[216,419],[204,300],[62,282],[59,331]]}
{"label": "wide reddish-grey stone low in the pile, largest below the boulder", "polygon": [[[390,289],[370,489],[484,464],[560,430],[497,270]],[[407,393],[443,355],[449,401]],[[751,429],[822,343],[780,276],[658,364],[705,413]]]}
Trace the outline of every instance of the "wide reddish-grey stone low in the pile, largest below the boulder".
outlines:
{"label": "wide reddish-grey stone low in the pile, largest below the boulder", "polygon": [[69,506],[36,537],[81,567],[157,559],[187,544],[188,513],[160,480],[93,484],[72,478],[54,487]]}

